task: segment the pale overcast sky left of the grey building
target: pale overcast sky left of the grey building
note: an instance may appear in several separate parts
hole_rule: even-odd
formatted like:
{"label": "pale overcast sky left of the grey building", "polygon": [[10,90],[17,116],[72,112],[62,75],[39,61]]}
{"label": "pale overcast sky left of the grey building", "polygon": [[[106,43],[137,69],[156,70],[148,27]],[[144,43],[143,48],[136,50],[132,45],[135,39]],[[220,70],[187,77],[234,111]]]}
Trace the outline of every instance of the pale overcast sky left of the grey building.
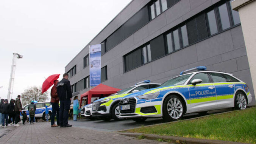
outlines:
{"label": "pale overcast sky left of the grey building", "polygon": [[16,65],[12,95],[16,98],[26,88],[41,87],[44,77],[62,75],[64,67],[129,2],[1,0],[0,97],[6,99],[8,94],[12,53],[23,55]]}

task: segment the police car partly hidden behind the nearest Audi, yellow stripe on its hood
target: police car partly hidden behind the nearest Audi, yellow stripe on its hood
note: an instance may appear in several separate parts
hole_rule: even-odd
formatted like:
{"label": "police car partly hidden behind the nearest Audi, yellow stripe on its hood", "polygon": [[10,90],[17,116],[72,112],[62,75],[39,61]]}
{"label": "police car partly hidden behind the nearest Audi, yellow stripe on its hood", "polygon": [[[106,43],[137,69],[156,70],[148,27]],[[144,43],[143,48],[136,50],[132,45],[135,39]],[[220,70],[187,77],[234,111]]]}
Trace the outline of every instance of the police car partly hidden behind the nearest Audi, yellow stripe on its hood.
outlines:
{"label": "police car partly hidden behind the nearest Audi, yellow stripe on its hood", "polygon": [[94,118],[100,118],[104,121],[109,121],[112,118],[119,121],[123,118],[120,118],[118,103],[124,96],[141,90],[155,88],[159,85],[161,84],[150,83],[149,80],[146,80],[139,82],[134,86],[125,88],[114,96],[98,99],[92,104],[92,116]]}

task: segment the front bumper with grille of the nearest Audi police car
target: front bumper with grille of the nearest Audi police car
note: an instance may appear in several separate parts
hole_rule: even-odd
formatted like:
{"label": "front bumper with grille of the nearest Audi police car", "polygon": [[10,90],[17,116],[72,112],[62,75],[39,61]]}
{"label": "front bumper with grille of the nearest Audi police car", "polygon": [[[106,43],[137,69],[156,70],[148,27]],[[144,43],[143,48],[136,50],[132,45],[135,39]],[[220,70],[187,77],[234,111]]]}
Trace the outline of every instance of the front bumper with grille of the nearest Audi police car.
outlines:
{"label": "front bumper with grille of the nearest Audi police car", "polygon": [[[139,118],[139,117],[161,117],[161,102],[162,99],[138,99],[138,98],[127,98],[131,103],[122,104],[126,99],[122,99],[119,102],[120,117],[121,118]],[[134,99],[136,100],[134,102]],[[129,105],[131,110],[121,110],[122,105]],[[134,105],[134,106],[133,106]]]}

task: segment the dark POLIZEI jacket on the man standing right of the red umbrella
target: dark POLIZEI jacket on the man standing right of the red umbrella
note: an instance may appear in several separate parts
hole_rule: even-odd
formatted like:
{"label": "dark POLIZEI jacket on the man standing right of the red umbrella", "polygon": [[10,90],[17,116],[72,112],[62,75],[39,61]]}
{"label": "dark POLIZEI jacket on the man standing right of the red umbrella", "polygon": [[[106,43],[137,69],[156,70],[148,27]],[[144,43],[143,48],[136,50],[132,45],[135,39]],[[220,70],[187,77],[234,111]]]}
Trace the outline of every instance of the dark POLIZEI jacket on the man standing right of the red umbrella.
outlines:
{"label": "dark POLIZEI jacket on the man standing right of the red umbrella", "polygon": [[69,80],[62,79],[58,82],[57,93],[59,100],[66,100],[72,98],[71,85]]}

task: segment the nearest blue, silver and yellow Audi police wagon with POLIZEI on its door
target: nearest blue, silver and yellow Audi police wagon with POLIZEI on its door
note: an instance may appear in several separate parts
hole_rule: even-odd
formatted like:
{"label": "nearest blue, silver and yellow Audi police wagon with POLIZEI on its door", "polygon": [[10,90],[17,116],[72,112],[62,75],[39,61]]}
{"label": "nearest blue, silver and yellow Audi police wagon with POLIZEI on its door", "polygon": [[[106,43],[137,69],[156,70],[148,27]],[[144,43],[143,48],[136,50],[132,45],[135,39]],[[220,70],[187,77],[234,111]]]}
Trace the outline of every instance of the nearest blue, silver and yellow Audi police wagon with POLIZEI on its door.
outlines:
{"label": "nearest blue, silver and yellow Audi police wagon with POLIZEI on its door", "polygon": [[158,88],[125,96],[119,102],[119,109],[121,118],[133,118],[137,122],[148,117],[172,121],[187,113],[206,113],[229,107],[245,109],[251,101],[245,82],[232,74],[206,71],[206,67],[201,66],[182,71],[180,76],[169,79]]}

